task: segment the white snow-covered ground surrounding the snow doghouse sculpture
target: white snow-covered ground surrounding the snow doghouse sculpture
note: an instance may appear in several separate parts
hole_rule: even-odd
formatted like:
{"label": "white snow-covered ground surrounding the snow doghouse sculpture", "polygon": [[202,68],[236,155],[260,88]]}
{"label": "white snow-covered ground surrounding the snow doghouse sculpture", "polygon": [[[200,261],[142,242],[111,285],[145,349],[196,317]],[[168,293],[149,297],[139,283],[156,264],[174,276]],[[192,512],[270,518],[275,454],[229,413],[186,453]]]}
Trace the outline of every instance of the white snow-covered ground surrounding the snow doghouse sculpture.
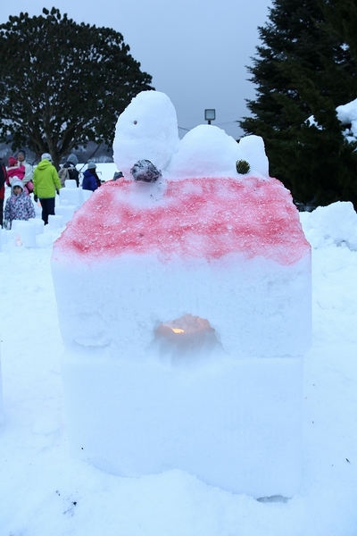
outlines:
{"label": "white snow-covered ground surrounding the snow doghouse sculpture", "polygon": [[312,246],[313,346],[305,356],[303,486],[257,501],[170,471],[137,479],[68,454],[62,339],[50,271],[59,231],[0,252],[4,424],[1,536],[355,536],[357,533],[357,215],[302,214]]}

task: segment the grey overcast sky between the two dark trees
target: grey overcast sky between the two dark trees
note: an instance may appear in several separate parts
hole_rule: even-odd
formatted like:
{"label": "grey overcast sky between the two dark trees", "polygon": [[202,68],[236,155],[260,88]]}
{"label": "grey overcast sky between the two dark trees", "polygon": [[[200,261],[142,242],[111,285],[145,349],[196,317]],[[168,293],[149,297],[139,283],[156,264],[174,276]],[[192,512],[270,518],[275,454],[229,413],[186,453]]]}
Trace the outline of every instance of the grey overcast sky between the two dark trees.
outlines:
{"label": "grey overcast sky between the two dark trees", "polygon": [[254,96],[245,65],[270,0],[14,0],[2,4],[0,21],[53,5],[76,22],[120,31],[154,88],[170,96],[180,137],[205,122],[205,108],[216,110],[212,124],[234,138],[242,134],[236,121],[249,115],[245,98]]}

